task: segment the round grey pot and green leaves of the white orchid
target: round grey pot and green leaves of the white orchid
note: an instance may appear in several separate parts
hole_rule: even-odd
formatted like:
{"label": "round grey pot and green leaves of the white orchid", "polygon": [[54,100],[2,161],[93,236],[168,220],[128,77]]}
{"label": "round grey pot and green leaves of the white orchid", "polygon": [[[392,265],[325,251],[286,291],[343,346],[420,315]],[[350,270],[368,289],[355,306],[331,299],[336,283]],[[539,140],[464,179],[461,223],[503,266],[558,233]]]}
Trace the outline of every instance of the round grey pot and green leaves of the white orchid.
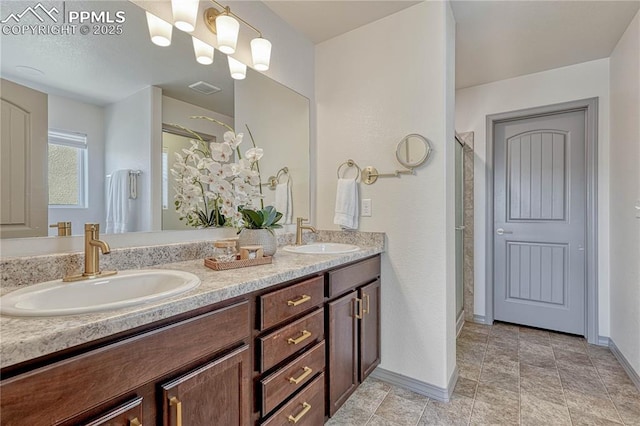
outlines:
{"label": "round grey pot and green leaves of the white orchid", "polygon": [[274,229],[282,228],[278,223],[282,219],[282,213],[273,206],[267,206],[260,210],[241,209],[242,222],[238,235],[240,247],[260,245],[265,256],[273,256],[276,253],[278,241]]}

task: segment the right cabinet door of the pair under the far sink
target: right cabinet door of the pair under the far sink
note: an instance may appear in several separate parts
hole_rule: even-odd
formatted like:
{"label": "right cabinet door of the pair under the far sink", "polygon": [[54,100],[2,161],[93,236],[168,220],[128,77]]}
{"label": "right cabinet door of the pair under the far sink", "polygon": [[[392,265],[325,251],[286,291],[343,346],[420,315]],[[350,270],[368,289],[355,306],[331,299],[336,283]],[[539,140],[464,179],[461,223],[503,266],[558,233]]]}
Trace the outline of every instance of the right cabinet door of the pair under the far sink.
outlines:
{"label": "right cabinet door of the pair under the far sink", "polygon": [[360,289],[360,382],[380,364],[380,280]]}

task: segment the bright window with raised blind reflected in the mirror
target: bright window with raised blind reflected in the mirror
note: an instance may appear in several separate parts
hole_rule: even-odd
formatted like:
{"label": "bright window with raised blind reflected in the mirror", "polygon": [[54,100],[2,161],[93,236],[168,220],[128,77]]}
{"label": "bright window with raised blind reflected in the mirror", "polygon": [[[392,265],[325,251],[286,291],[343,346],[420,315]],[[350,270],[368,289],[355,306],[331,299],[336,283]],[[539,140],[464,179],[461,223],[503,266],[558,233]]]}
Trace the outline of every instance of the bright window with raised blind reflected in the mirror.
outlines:
{"label": "bright window with raised blind reflected in the mirror", "polygon": [[87,135],[49,130],[49,207],[87,207]]}

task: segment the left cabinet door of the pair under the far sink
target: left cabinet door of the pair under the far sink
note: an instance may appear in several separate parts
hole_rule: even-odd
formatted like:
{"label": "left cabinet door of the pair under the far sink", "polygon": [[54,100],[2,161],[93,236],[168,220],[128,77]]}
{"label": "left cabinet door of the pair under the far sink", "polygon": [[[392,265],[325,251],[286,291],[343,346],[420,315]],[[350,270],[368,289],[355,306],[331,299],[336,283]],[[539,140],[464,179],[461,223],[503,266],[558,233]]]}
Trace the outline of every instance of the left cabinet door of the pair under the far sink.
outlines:
{"label": "left cabinet door of the pair under the far sink", "polygon": [[358,386],[357,292],[327,304],[329,318],[329,415]]}

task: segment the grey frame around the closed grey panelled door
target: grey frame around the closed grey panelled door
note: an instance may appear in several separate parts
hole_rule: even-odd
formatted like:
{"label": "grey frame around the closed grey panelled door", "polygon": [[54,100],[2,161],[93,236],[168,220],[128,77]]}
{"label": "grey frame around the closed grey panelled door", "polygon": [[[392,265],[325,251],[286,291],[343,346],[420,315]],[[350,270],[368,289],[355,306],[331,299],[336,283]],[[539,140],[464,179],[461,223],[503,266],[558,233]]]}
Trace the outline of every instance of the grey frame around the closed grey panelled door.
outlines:
{"label": "grey frame around the closed grey panelled door", "polygon": [[598,98],[581,99],[571,102],[526,108],[516,111],[487,115],[486,137],[486,281],[485,281],[485,323],[493,324],[493,292],[494,292],[494,235],[493,235],[493,202],[494,202],[494,167],[493,137],[498,123],[543,117],[571,111],[585,112],[585,168],[587,188],[587,220],[585,247],[585,277],[587,281],[585,300],[585,330],[587,341],[598,344]]}

